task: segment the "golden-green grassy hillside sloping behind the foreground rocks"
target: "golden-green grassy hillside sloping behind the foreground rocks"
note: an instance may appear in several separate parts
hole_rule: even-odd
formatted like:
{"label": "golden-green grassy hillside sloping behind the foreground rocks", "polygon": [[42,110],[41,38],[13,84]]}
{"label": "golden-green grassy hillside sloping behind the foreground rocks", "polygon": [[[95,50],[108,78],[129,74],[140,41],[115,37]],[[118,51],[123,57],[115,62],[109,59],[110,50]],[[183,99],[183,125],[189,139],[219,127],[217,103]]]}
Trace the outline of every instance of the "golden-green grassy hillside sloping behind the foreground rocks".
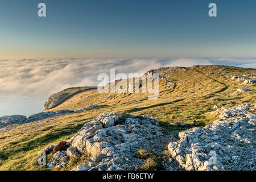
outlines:
{"label": "golden-green grassy hillside sloping behind the foreground rocks", "polygon": [[[43,169],[36,163],[38,151],[51,143],[71,138],[84,123],[95,119],[101,113],[148,115],[162,122],[162,126],[167,130],[177,131],[184,128],[170,123],[192,123],[196,119],[200,126],[205,126],[217,119],[216,115],[210,115],[210,112],[215,110],[214,105],[232,107],[256,102],[255,91],[232,94],[238,88],[256,89],[256,84],[240,85],[242,81],[231,79],[235,75],[255,76],[256,69],[210,65],[159,68],[155,72],[174,81],[168,88],[165,84],[166,78],[159,80],[159,98],[156,100],[148,100],[148,94],[100,94],[96,88],[90,89],[75,94],[51,110],[79,110],[89,105],[101,105],[97,109],[87,109],[80,113],[29,123],[0,133],[0,169]],[[106,98],[109,100],[106,101]],[[80,162],[75,161],[74,165],[78,163]]]}

